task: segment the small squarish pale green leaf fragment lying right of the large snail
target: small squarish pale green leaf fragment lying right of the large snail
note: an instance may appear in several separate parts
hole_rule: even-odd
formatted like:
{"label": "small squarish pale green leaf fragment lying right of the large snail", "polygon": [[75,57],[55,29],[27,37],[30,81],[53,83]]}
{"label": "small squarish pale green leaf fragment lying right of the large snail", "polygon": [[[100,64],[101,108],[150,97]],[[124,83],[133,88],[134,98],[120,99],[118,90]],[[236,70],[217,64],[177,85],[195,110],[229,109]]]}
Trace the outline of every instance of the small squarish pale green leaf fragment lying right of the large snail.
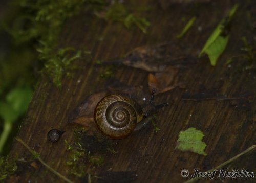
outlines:
{"label": "small squarish pale green leaf fragment lying right of the large snail", "polygon": [[188,128],[185,131],[181,131],[177,141],[176,149],[207,155],[204,152],[206,144],[202,142],[203,137],[203,132],[197,130],[196,128]]}

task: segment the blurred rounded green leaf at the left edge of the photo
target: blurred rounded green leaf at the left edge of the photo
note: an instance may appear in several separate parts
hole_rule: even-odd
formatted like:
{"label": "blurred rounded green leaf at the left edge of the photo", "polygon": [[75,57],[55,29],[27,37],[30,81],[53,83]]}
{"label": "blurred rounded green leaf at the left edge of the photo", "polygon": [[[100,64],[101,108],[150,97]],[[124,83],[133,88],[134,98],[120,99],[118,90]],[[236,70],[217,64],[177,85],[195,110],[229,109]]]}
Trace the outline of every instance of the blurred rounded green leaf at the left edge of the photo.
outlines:
{"label": "blurred rounded green leaf at the left edge of the photo", "polygon": [[6,96],[6,101],[0,102],[0,116],[4,121],[13,123],[27,111],[31,97],[30,88],[14,88]]}

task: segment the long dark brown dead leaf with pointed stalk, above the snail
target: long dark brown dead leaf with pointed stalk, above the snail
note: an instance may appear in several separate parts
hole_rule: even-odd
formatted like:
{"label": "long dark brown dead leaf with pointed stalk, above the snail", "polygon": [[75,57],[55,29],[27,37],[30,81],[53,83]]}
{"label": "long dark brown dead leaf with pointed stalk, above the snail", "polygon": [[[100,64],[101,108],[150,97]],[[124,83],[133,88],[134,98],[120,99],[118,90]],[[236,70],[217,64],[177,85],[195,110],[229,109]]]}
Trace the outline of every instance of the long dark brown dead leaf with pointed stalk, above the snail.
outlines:
{"label": "long dark brown dead leaf with pointed stalk, above the snail", "polygon": [[183,47],[179,43],[160,43],[152,46],[138,47],[128,52],[124,58],[110,60],[105,64],[123,64],[140,68],[148,72],[165,72],[169,65],[187,65],[197,62],[191,48]]}

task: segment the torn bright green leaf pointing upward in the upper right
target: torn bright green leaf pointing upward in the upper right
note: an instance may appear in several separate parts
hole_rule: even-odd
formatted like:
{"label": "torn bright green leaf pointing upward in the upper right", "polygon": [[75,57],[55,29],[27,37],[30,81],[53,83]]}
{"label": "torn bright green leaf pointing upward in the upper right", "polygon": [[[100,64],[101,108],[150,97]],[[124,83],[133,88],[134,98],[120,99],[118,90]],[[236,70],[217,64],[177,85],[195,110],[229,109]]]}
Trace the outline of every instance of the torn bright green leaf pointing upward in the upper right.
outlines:
{"label": "torn bright green leaf pointing upward in the upper right", "polygon": [[238,4],[235,4],[228,13],[226,18],[223,18],[219,25],[215,28],[214,32],[207,39],[203,49],[199,53],[199,57],[203,53],[206,53],[210,59],[211,65],[215,65],[219,56],[223,53],[226,48],[229,36],[223,36],[222,33],[225,31],[225,25],[230,24],[230,21],[237,11]]}

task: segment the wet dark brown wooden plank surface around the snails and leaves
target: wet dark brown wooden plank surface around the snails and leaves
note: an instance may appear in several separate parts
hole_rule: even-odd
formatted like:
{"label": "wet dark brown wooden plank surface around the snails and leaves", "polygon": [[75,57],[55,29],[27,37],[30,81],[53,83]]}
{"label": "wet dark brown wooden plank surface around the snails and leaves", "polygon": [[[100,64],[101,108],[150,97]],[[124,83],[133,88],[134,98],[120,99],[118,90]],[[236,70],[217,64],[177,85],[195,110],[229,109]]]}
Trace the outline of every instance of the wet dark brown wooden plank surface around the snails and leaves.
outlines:
{"label": "wet dark brown wooden plank surface around the snails and leaves", "polygon": [[[47,132],[52,128],[63,128],[70,113],[79,103],[89,95],[108,87],[110,79],[101,77],[108,66],[94,64],[97,60],[121,58],[136,47],[172,42],[180,45],[179,48],[184,49],[185,53],[190,53],[191,59],[195,62],[175,65],[178,72],[171,84],[183,83],[184,87],[177,87],[156,96],[157,104],[166,101],[170,103],[158,112],[156,125],[160,131],[155,132],[154,126],[148,124],[129,137],[114,141],[116,153],[104,153],[102,166],[92,170],[86,165],[84,171],[90,170],[91,180],[183,182],[189,179],[181,176],[183,169],[189,172],[194,172],[195,169],[209,170],[255,144],[255,67],[254,70],[246,70],[248,61],[243,56],[235,57],[233,62],[226,64],[233,56],[246,55],[246,52],[241,50],[241,37],[245,36],[250,43],[255,41],[255,27],[254,30],[249,28],[253,24],[253,19],[249,15],[256,13],[255,2],[241,1],[233,17],[230,41],[216,66],[210,65],[206,55],[202,58],[197,58],[197,55],[219,21],[227,15],[234,4],[233,1],[172,4],[165,10],[157,1],[131,1],[130,4],[151,7],[143,14],[151,21],[146,34],[137,27],[126,29],[120,23],[106,22],[87,13],[82,13],[67,22],[61,35],[61,44],[75,48],[86,47],[91,51],[92,58],[83,58],[76,62],[78,68],[73,72],[72,78],[62,79],[61,89],[56,88],[47,77],[41,79],[18,136],[62,175],[74,182],[88,181],[87,176],[79,179],[71,175],[70,167],[67,165],[69,151],[65,146],[65,140],[74,141],[72,129],[77,126],[71,125],[57,143],[47,140]],[[196,16],[193,27],[184,37],[177,39],[176,36],[193,16]],[[172,50],[169,52],[172,53]],[[255,66],[255,62],[253,64]],[[140,68],[116,64],[112,80],[142,88],[148,100],[148,74],[150,72]],[[218,100],[223,97],[233,99]],[[195,127],[205,134],[203,141],[207,144],[207,156],[175,150],[179,132],[189,127]],[[28,150],[15,140],[11,155],[24,158],[28,164],[19,168],[19,172],[9,181],[63,181],[33,160]],[[229,171],[255,171],[255,159],[254,151],[224,168]],[[36,163],[36,168],[31,166],[32,162]],[[118,181],[114,177],[118,177]],[[233,181],[231,178],[215,180]],[[253,179],[244,178],[236,181],[253,182]]]}

